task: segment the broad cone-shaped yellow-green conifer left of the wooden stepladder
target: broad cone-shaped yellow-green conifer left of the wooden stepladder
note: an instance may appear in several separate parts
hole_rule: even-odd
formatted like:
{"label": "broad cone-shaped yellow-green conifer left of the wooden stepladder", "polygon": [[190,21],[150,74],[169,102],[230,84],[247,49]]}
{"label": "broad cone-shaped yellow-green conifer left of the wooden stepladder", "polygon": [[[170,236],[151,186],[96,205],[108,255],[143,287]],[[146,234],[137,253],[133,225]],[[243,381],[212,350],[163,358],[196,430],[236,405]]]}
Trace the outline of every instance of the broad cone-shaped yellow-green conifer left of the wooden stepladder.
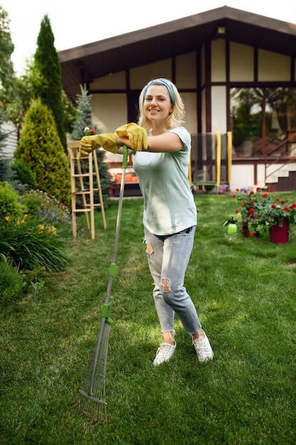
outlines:
{"label": "broad cone-shaped yellow-green conifer left of the wooden stepladder", "polygon": [[71,183],[67,156],[57,134],[53,113],[39,99],[32,100],[26,113],[14,156],[31,168],[37,188],[70,206]]}

